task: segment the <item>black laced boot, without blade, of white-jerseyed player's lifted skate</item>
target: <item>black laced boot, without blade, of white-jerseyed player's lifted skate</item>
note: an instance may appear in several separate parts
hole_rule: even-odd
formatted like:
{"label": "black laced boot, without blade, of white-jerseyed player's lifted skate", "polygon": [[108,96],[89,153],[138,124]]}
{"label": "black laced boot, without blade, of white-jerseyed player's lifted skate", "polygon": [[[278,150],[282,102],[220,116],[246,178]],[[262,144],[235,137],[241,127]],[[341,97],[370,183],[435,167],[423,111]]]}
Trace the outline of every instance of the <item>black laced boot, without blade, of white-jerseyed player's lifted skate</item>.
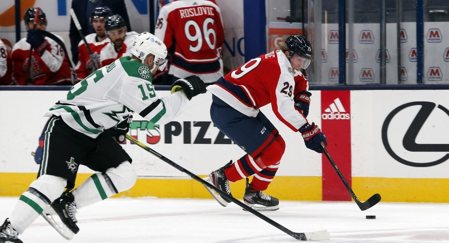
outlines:
{"label": "black laced boot, without blade, of white-jerseyed player's lifted skate", "polygon": [[64,192],[59,198],[54,200],[50,206],[56,211],[61,221],[73,232],[78,233],[76,226],[76,205],[75,197],[71,192]]}

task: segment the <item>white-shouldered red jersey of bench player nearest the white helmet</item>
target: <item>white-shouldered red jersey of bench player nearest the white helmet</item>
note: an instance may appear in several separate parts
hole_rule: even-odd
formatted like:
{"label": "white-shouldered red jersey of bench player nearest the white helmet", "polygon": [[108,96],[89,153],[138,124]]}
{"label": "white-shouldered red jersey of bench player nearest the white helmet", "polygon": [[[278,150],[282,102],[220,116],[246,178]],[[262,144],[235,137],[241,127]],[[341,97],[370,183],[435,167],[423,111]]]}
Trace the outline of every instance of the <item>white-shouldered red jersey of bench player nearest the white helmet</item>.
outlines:
{"label": "white-shouldered red jersey of bench player nearest the white helmet", "polygon": [[115,51],[112,42],[106,44],[100,51],[101,66],[107,66],[121,57],[131,56],[131,45],[133,44],[136,35],[138,35],[138,33],[135,31],[127,32],[125,41],[122,43],[122,48],[118,53]]}

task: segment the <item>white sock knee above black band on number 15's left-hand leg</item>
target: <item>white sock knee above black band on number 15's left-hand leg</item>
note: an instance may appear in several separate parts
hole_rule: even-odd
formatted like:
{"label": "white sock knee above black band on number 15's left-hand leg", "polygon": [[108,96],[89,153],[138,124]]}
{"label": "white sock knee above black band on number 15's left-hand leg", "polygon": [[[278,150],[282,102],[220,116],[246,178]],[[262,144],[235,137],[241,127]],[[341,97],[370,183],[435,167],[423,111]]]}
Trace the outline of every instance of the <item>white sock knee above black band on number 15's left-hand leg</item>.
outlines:
{"label": "white sock knee above black band on number 15's left-hand leg", "polygon": [[[33,192],[33,194],[42,193],[52,202],[61,195],[66,185],[67,180],[62,177],[42,175],[34,182],[31,182],[30,187],[38,191]],[[32,189],[28,190],[32,191]]]}

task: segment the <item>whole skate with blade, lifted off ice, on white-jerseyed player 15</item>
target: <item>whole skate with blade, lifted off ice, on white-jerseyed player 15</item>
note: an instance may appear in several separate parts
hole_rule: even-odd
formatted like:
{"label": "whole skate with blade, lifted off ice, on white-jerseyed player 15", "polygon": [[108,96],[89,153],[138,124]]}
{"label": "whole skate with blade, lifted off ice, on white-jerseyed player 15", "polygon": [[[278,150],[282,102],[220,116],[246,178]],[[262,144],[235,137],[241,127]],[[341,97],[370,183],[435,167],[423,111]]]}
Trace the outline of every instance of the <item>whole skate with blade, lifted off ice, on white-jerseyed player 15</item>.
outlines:
{"label": "whole skate with blade, lifted off ice, on white-jerseyed player 15", "polygon": [[[62,196],[47,205],[41,215],[62,237],[72,240],[79,231],[78,226],[76,226],[75,213],[76,206],[73,194],[64,192]],[[58,216],[56,217],[57,220],[55,220],[55,215]]]}

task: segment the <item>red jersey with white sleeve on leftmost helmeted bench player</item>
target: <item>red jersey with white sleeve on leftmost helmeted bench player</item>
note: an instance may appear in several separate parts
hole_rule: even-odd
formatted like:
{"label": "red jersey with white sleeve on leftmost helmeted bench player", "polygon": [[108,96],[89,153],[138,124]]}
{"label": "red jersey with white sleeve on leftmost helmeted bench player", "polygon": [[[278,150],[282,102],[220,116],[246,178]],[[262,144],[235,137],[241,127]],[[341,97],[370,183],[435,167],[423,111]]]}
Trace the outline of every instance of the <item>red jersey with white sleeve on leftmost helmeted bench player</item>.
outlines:
{"label": "red jersey with white sleeve on leftmost helmeted bench player", "polygon": [[[64,40],[56,35],[63,42]],[[54,40],[45,37],[50,47],[39,56],[32,51],[31,56],[31,84],[34,85],[60,85],[72,84],[72,73],[69,61],[63,49]],[[18,85],[25,84],[25,75],[30,73],[28,59],[30,57],[30,44],[26,38],[21,39],[12,47],[13,74]],[[27,70],[28,69],[28,70]]]}

